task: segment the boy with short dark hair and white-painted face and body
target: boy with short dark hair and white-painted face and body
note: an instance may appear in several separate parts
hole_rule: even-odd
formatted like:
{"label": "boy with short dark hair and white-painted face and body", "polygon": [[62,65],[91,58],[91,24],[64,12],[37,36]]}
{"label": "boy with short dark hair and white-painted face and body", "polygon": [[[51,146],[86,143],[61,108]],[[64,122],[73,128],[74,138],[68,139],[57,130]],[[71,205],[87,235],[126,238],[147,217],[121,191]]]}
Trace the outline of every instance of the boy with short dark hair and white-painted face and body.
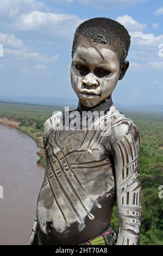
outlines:
{"label": "boy with short dark hair and white-painted face and body", "polygon": [[[111,100],[129,67],[125,61],[129,46],[126,28],[114,20],[94,18],[77,28],[71,83],[79,104],[76,111],[68,112],[70,129],[66,113],[54,114],[45,123],[46,174],[30,244],[139,244],[139,133]],[[92,120],[98,121],[96,129],[89,129],[87,122],[82,129],[84,120],[90,121],[87,111],[96,113]],[[75,121],[73,114],[78,115]],[[97,129],[102,122],[105,134]],[[80,127],[71,129],[70,123]],[[115,200],[117,237],[110,225]]]}

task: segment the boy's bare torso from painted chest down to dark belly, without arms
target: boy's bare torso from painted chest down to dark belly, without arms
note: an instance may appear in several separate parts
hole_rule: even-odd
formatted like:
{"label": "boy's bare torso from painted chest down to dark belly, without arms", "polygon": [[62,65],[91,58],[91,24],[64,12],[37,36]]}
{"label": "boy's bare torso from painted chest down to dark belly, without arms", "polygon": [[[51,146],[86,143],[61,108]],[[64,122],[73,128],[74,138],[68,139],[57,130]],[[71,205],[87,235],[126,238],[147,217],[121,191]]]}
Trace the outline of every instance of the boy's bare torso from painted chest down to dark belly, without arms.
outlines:
{"label": "boy's bare torso from painted chest down to dark belly, without arms", "polygon": [[[109,112],[111,127],[126,119],[114,106]],[[49,133],[37,202],[38,227],[46,244],[79,244],[109,226],[115,203],[110,137],[101,136],[101,130]]]}

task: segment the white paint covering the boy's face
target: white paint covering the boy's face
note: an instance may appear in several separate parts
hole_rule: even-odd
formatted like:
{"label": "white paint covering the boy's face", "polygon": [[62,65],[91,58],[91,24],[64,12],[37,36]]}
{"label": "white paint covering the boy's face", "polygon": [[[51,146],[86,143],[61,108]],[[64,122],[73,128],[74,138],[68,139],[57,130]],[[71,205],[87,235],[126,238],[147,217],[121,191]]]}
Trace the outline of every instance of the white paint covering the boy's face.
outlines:
{"label": "white paint covering the boy's face", "polygon": [[78,46],[71,64],[71,83],[83,105],[96,106],[111,95],[120,77],[117,53],[101,46]]}

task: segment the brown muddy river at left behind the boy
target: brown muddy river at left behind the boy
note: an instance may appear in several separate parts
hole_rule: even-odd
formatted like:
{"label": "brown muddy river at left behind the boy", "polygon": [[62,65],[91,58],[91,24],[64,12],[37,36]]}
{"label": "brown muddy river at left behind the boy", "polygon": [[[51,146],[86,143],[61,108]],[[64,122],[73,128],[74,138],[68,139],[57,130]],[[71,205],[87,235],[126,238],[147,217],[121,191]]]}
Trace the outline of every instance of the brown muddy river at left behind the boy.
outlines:
{"label": "brown muddy river at left behind the boy", "polygon": [[0,125],[1,245],[28,245],[44,176],[37,151],[33,139]]}

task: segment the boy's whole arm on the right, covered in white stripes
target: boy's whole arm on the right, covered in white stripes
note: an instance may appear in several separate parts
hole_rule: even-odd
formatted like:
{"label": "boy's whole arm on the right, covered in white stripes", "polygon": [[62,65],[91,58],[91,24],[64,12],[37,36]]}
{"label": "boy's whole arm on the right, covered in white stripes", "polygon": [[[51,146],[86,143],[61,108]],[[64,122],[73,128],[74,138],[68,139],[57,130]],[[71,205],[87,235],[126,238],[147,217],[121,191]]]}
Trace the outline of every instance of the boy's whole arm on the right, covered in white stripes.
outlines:
{"label": "boy's whole arm on the right, covered in white stripes", "polygon": [[119,231],[117,245],[139,245],[141,183],[139,174],[139,132],[130,121],[112,130],[115,161]]}

